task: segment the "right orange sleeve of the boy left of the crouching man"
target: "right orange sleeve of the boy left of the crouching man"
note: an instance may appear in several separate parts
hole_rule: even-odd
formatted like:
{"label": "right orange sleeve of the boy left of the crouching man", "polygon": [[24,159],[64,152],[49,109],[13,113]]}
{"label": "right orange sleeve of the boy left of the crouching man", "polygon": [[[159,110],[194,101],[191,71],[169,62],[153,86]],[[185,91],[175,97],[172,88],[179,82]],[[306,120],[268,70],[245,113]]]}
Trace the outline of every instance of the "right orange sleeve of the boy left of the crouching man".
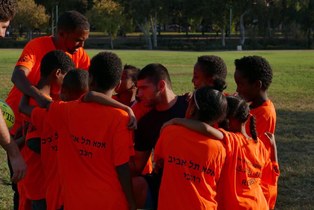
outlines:
{"label": "right orange sleeve of the boy left of the crouching man", "polygon": [[120,121],[113,135],[113,158],[115,165],[122,165],[129,161],[131,154],[134,155],[132,131],[127,129],[129,118],[127,116]]}

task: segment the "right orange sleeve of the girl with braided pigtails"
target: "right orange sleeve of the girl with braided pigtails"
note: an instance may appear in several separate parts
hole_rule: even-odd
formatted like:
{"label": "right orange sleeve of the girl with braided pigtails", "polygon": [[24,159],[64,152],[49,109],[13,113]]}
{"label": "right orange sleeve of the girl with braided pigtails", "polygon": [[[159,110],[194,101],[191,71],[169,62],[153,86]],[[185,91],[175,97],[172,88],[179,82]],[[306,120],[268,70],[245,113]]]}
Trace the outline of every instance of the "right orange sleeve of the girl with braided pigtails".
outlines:
{"label": "right orange sleeve of the girl with braided pigtails", "polygon": [[275,185],[279,177],[279,166],[275,161],[271,161],[268,152],[265,151],[266,162],[262,171],[261,181],[268,185]]}

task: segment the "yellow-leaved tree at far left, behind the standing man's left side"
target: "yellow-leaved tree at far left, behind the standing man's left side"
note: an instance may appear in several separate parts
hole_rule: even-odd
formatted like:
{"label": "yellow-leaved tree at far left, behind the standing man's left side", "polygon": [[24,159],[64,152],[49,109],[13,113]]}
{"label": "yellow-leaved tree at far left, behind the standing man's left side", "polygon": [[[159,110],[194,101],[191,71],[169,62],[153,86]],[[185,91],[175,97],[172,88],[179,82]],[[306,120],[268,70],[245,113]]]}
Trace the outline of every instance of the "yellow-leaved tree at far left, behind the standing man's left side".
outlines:
{"label": "yellow-leaved tree at far left, behind the standing man's left side", "polygon": [[45,7],[36,5],[34,0],[18,0],[15,2],[15,8],[14,23],[26,26],[27,38],[32,40],[33,29],[42,27],[49,20]]}

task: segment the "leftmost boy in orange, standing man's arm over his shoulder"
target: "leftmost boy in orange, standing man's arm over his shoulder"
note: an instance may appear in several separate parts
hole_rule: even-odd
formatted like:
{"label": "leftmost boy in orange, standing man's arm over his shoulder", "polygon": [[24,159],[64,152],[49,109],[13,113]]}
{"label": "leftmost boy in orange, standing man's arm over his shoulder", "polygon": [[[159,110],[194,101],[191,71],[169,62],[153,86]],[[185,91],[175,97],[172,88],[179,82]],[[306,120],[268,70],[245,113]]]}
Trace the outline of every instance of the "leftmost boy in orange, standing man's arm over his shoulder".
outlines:
{"label": "leftmost boy in orange, standing man's arm over his shoulder", "polygon": [[[64,75],[74,67],[74,62],[65,52],[61,50],[48,52],[41,60],[41,78],[36,86],[37,89],[47,98],[50,98],[50,93],[57,95]],[[36,100],[31,98],[29,105],[36,106]],[[26,115],[22,115],[22,118],[23,126],[30,121],[30,117]],[[26,145],[21,151],[28,166],[28,173],[24,180],[18,183],[18,188],[24,188],[26,198],[31,200],[32,209],[46,209],[45,175],[41,165],[41,155],[30,149],[37,145],[38,137],[40,137],[38,130],[30,123],[26,134]],[[22,196],[24,195],[20,195]]]}

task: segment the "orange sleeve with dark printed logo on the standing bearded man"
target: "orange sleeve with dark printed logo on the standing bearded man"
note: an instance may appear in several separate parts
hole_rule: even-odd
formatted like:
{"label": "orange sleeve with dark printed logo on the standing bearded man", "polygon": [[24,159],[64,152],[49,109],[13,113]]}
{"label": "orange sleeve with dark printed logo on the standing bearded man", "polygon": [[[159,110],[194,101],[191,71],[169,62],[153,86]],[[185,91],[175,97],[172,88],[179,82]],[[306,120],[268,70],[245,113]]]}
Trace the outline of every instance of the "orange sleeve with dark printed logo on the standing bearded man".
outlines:
{"label": "orange sleeve with dark printed logo on the standing bearded man", "polygon": [[28,70],[31,71],[36,61],[36,49],[37,51],[38,49],[40,49],[38,48],[36,40],[32,40],[29,43],[27,43],[15,67],[21,65],[28,68]]}

